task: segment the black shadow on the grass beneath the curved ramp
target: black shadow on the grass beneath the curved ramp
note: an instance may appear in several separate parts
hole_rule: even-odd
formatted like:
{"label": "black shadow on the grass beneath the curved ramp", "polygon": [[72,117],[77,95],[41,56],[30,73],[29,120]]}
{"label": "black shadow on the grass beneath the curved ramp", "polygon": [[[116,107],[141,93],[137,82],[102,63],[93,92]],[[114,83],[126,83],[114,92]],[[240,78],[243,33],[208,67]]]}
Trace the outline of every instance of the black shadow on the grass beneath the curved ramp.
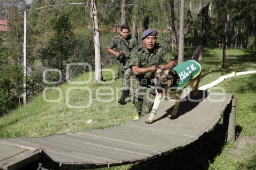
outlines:
{"label": "black shadow on the grass beneath the curved ramp", "polygon": [[[173,151],[172,153],[159,158],[141,162],[133,165],[131,170],[203,170],[208,169],[209,164],[214,162],[217,155],[222,152],[225,145],[226,130],[223,124],[217,124],[213,131],[205,133],[194,143]],[[241,126],[236,126],[239,135]],[[255,164],[254,164],[255,165]]]}

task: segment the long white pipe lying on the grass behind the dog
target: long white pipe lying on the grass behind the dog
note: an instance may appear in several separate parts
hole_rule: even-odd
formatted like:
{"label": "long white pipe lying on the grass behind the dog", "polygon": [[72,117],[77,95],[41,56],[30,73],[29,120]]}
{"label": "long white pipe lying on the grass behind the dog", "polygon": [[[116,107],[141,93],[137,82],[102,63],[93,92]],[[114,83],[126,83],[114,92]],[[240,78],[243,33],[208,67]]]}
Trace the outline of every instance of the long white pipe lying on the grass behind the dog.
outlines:
{"label": "long white pipe lying on the grass behind the dog", "polygon": [[217,80],[215,80],[215,81],[213,81],[213,82],[211,82],[209,84],[205,84],[204,86],[199,87],[198,89],[199,90],[208,90],[211,87],[214,87],[217,84],[220,84],[221,82],[223,82],[224,80],[226,80],[226,79],[228,79],[230,77],[240,76],[240,75],[245,75],[245,74],[253,74],[253,73],[256,73],[256,70],[254,70],[254,71],[243,71],[243,72],[239,72],[239,73],[232,72],[231,74],[227,74],[227,75],[221,76]]}

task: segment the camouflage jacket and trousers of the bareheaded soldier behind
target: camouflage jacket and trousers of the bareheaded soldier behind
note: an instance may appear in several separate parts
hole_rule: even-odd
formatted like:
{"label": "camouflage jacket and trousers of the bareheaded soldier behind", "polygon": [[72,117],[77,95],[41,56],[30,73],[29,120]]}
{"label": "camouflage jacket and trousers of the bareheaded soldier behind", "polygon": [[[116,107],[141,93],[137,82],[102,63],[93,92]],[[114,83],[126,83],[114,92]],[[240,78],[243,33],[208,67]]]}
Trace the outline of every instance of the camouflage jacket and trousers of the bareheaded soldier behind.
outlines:
{"label": "camouflage jacket and trousers of the bareheaded soldier behind", "polygon": [[[118,75],[121,80],[121,84],[123,87],[129,87],[130,84],[130,75],[131,75],[131,69],[128,68],[128,64],[130,63],[130,51],[126,48],[124,43],[121,41],[121,36],[117,35],[114,39],[110,41],[107,48],[115,49],[116,52],[123,52],[125,54],[125,61],[123,63],[120,63],[120,61],[117,59],[117,70]],[[130,35],[127,40],[124,39],[127,46],[132,50],[137,44],[137,39]],[[126,73],[126,76],[124,77],[124,73],[126,69],[128,68],[128,71]],[[130,71],[129,71],[130,70]],[[122,83],[123,82],[123,83]]]}

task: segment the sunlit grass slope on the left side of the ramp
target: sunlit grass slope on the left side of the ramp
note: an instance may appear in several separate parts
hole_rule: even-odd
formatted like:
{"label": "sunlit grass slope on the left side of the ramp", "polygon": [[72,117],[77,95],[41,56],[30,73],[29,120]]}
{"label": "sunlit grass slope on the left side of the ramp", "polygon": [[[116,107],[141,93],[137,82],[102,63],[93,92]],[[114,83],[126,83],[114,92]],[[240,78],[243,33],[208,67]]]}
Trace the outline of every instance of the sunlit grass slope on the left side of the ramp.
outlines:
{"label": "sunlit grass slope on the left side of the ramp", "polygon": [[[110,67],[116,71],[116,67]],[[73,79],[73,81],[86,81],[88,74],[82,74]],[[112,74],[103,72],[106,81],[110,81]],[[66,92],[70,87],[88,87],[92,91],[92,105],[85,109],[69,108],[66,104]],[[109,87],[114,89],[112,96],[102,95],[98,99],[108,100],[113,98],[113,102],[102,103],[96,100],[96,90],[99,87]],[[102,129],[111,126],[120,125],[133,118],[136,109],[131,102],[121,106],[117,103],[120,98],[116,97],[116,90],[120,87],[120,80],[105,85],[94,83],[94,73],[92,82],[88,84],[70,84],[65,83],[60,86],[62,98],[60,102],[45,102],[43,95],[40,94],[31,100],[25,107],[20,107],[15,111],[0,117],[0,137],[38,137],[57,133],[80,132],[88,129]],[[101,90],[100,93],[111,93],[110,90]],[[82,106],[89,103],[89,92],[87,90],[70,90],[69,104]],[[59,98],[58,90],[47,90],[45,93],[47,100],[57,100]],[[127,101],[129,101],[128,98]],[[92,119],[91,124],[86,121]]]}

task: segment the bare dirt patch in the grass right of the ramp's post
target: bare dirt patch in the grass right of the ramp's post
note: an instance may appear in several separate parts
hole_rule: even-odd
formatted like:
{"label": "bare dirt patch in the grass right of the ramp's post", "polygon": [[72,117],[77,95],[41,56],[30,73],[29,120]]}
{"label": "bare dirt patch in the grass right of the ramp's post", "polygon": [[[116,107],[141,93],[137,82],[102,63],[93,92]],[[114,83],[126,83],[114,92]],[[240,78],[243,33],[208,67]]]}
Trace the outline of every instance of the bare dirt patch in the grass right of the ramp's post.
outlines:
{"label": "bare dirt patch in the grass right of the ramp's post", "polygon": [[249,147],[254,143],[256,143],[255,139],[252,139],[248,136],[240,136],[237,139],[236,148],[230,150],[230,153],[233,153],[237,157],[241,157],[242,156],[242,151],[243,150],[248,150]]}

